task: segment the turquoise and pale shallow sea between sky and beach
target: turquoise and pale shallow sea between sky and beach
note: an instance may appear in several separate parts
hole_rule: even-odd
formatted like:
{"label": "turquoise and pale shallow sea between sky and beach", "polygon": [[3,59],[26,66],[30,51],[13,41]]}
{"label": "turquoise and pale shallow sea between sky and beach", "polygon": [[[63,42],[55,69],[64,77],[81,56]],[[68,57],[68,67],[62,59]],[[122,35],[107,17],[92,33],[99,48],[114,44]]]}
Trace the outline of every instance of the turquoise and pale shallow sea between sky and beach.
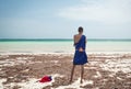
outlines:
{"label": "turquoise and pale shallow sea between sky and beach", "polygon": [[[131,52],[131,40],[88,40],[87,52]],[[73,53],[72,40],[0,40],[0,53]]]}

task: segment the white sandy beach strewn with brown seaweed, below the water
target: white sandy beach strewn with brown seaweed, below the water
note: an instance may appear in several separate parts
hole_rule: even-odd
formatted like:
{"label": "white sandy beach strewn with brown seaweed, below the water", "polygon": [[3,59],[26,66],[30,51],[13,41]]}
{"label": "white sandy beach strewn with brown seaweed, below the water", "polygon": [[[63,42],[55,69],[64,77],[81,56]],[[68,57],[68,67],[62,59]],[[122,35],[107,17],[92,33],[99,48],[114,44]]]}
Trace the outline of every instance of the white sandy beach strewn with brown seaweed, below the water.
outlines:
{"label": "white sandy beach strewn with brown seaweed, below the water", "polygon": [[[0,89],[131,89],[131,53],[92,53],[80,84],[80,66],[69,84],[73,54],[1,54]],[[44,76],[50,82],[37,82]]]}

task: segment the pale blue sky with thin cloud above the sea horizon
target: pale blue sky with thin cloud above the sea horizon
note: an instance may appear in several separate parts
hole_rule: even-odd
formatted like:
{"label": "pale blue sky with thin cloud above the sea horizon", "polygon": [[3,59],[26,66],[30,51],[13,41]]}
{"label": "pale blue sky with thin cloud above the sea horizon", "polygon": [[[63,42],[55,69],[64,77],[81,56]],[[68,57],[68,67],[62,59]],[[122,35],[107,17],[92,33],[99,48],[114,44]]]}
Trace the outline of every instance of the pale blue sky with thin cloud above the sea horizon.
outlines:
{"label": "pale blue sky with thin cloud above the sea horizon", "polygon": [[0,38],[131,38],[131,0],[0,0]]}

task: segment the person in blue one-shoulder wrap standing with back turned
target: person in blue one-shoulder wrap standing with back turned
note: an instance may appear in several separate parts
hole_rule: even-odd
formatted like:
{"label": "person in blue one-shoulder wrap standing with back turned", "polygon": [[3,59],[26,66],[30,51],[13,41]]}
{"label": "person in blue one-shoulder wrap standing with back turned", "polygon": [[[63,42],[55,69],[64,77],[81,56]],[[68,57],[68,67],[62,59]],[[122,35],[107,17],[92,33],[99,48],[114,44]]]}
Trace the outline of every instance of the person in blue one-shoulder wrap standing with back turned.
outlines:
{"label": "person in blue one-shoulder wrap standing with back turned", "polygon": [[84,74],[84,64],[87,63],[87,55],[85,53],[86,47],[86,36],[83,35],[83,27],[79,27],[79,34],[74,35],[74,46],[75,46],[75,54],[73,58],[73,67],[71,71],[70,84],[72,82],[74,68],[76,65],[81,65],[81,84],[83,82],[83,74]]}

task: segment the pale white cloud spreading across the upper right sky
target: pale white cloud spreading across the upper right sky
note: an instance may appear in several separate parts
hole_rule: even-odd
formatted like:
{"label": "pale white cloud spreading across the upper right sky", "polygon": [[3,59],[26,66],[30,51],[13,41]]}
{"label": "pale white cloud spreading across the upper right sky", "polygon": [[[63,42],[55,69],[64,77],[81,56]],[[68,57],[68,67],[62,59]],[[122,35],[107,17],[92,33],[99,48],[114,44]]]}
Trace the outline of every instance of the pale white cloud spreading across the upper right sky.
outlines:
{"label": "pale white cloud spreading across the upper right sky", "polygon": [[107,24],[131,22],[131,0],[82,0],[74,7],[60,9],[58,15],[74,21]]}

